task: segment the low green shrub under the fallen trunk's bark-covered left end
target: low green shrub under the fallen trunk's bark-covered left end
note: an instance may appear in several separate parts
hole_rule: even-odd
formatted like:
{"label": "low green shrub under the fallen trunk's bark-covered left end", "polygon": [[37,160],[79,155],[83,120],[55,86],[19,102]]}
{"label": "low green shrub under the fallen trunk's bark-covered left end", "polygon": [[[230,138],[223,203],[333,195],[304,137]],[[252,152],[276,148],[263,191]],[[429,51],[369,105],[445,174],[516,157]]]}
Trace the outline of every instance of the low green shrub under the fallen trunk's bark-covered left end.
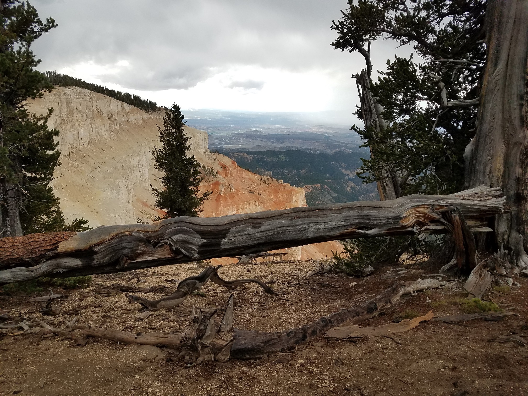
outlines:
{"label": "low green shrub under the fallen trunk's bark-covered left end", "polygon": [[91,276],[75,276],[71,278],[48,278],[41,277],[26,282],[10,283],[0,287],[0,293],[12,295],[32,295],[42,293],[46,287],[61,287],[63,289],[74,289],[86,287],[92,281]]}

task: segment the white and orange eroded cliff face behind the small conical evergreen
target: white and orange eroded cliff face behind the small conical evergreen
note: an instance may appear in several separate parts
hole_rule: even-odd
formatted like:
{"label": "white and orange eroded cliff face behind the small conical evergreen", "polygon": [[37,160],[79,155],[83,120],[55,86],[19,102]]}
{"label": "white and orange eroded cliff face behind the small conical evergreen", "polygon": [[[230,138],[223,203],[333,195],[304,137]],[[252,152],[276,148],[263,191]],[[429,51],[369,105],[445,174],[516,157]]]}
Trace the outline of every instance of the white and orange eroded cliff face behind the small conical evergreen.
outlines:
{"label": "white and orange eroded cliff face behind the small conical evergreen", "polygon": [[[157,125],[162,112],[145,112],[78,87],[57,88],[27,109],[53,114],[50,128],[60,131],[61,166],[53,190],[67,221],[87,219],[91,227],[136,223],[163,215],[154,207],[150,185],[161,187],[150,151],[159,146]],[[200,190],[212,191],[203,216],[222,216],[306,206],[302,188],[282,184],[240,168],[230,158],[212,155],[205,131],[186,127],[190,155],[211,169]],[[301,257],[300,249],[291,259]]]}

